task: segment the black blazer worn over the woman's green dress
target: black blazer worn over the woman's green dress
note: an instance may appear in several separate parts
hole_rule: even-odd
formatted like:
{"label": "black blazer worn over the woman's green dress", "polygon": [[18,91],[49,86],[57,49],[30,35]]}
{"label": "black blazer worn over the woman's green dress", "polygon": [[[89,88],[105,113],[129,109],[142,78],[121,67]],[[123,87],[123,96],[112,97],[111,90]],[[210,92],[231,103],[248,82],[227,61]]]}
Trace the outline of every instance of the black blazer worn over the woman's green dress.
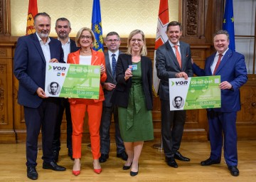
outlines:
{"label": "black blazer worn over the woman's green dress", "polygon": [[[152,61],[146,56],[142,56],[142,86],[146,97],[146,108],[153,108],[153,93],[152,93]],[[132,87],[132,77],[124,80],[124,73],[128,66],[132,65],[132,55],[119,55],[117,60],[116,80],[117,86],[114,89],[110,102],[118,107],[127,107],[129,100],[129,90]]]}

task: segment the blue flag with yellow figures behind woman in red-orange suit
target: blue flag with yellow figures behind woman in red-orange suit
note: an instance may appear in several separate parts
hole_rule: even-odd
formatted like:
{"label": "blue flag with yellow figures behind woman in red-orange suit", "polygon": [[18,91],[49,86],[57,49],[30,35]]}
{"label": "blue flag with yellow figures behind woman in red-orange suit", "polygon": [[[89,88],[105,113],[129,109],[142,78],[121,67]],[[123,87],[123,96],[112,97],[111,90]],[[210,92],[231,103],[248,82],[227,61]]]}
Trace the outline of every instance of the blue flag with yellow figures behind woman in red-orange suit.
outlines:
{"label": "blue flag with yellow figures behind woman in red-orange suit", "polygon": [[100,14],[100,0],[93,0],[92,5],[92,31],[95,34],[96,43],[93,47],[96,51],[104,50],[103,47],[103,36],[102,36],[102,21]]}

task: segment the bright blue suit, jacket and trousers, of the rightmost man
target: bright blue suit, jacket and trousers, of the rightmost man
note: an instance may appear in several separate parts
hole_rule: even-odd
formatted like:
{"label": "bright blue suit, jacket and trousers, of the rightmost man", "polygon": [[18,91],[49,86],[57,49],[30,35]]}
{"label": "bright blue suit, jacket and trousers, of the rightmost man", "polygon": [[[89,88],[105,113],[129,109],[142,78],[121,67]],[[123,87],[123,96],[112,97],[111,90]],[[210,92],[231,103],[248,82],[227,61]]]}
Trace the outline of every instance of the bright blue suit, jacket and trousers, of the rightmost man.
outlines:
{"label": "bright blue suit, jacket and trousers, of the rightmost man", "polygon": [[[193,64],[193,71],[198,76],[213,75],[210,66],[213,64],[215,53],[206,58],[203,69]],[[210,137],[210,159],[220,161],[222,151],[222,132],[224,133],[224,157],[228,166],[238,165],[236,116],[240,110],[239,88],[247,82],[245,56],[228,49],[216,70],[221,82],[227,81],[232,85],[230,90],[221,90],[221,107],[208,109],[208,124]]]}

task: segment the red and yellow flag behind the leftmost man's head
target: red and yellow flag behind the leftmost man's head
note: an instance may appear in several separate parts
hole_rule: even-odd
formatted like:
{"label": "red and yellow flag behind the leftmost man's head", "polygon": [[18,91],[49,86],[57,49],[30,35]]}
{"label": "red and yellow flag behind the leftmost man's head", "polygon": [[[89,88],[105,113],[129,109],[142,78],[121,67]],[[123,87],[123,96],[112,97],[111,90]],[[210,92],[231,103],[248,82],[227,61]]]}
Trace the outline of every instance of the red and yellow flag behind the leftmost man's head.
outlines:
{"label": "red and yellow flag behind the leftmost man's head", "polygon": [[38,14],[37,0],[29,0],[26,36],[36,32],[36,29],[33,26],[36,14]]}

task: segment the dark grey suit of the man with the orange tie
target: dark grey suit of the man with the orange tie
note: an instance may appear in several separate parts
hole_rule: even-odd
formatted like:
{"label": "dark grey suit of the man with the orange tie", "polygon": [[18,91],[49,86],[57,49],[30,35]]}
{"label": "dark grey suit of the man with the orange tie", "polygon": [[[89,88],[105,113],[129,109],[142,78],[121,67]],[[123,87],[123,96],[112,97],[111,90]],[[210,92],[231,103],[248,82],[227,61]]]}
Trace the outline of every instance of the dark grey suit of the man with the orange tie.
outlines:
{"label": "dark grey suit of the man with the orange tie", "polygon": [[174,157],[181,145],[186,111],[170,111],[169,78],[176,73],[185,72],[193,77],[190,45],[179,41],[181,49],[181,68],[169,41],[156,50],[156,71],[160,79],[159,96],[161,100],[161,133],[166,157]]}

